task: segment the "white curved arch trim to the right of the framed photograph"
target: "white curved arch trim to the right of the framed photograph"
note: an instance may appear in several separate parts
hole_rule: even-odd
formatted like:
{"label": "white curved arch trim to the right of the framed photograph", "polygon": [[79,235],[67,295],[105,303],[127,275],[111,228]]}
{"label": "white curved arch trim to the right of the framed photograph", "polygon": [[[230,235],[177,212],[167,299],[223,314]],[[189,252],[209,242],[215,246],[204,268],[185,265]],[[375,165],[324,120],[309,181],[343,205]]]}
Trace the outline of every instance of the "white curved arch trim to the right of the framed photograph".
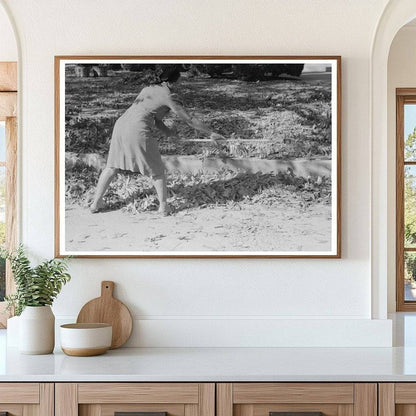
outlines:
{"label": "white curved arch trim to the right of the framed photograph", "polygon": [[391,296],[394,297],[395,292],[395,227],[392,226],[396,215],[395,152],[392,151],[395,135],[391,137],[390,133],[394,109],[391,110],[391,91],[388,88],[388,58],[396,34],[415,17],[416,4],[413,0],[388,3],[374,37],[371,56],[371,266],[374,319],[387,318],[388,310],[392,311]]}

